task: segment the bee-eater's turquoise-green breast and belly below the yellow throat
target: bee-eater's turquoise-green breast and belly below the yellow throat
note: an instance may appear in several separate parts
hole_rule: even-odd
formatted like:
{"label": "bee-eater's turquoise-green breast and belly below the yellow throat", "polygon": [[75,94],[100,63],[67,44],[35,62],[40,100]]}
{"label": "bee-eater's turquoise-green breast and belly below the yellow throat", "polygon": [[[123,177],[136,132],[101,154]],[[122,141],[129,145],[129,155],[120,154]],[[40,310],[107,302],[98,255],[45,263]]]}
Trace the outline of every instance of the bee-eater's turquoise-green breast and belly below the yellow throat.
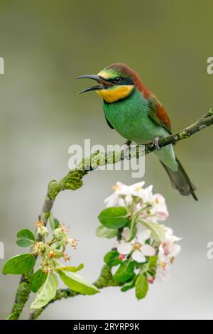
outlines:
{"label": "bee-eater's turquoise-green breast and belly below the yellow throat", "polygon": [[118,102],[104,102],[104,114],[109,123],[125,139],[139,144],[153,141],[156,136],[167,135],[167,131],[148,116],[149,110],[147,100],[137,90]]}

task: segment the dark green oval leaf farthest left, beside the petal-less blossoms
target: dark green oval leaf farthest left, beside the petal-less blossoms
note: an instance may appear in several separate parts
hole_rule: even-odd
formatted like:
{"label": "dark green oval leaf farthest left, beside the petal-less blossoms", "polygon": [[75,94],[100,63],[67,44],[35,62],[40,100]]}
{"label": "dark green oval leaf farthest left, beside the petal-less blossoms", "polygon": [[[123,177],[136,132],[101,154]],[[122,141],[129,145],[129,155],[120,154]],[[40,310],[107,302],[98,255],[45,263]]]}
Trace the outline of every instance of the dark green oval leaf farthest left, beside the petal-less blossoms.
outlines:
{"label": "dark green oval leaf farthest left, beside the petal-less blossoms", "polygon": [[35,257],[32,254],[21,254],[16,257],[11,257],[2,269],[4,275],[6,274],[27,274],[35,266]]}

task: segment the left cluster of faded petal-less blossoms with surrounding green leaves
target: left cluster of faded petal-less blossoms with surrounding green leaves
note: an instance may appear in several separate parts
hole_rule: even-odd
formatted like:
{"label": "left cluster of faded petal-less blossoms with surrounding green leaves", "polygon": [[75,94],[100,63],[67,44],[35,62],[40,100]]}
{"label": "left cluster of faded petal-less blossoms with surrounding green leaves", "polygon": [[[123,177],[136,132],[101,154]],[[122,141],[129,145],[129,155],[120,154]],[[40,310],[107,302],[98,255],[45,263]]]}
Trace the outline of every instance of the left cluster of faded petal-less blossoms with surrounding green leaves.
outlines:
{"label": "left cluster of faded petal-less blossoms with surrounding green leaves", "polygon": [[[31,247],[31,251],[11,257],[2,269],[5,275],[28,274],[30,289],[36,293],[31,303],[33,309],[43,308],[55,298],[59,285],[58,278],[77,293],[93,295],[99,292],[94,284],[87,282],[80,274],[76,274],[84,268],[84,264],[67,266],[59,261],[59,259],[70,261],[70,255],[65,253],[65,250],[68,244],[76,249],[77,239],[70,239],[68,228],[60,224],[52,212],[49,214],[48,223],[52,230],[51,238],[47,238],[50,232],[43,220],[35,222],[35,235],[31,230],[19,231],[16,243],[19,247]],[[36,259],[40,262],[37,271],[34,270]]]}

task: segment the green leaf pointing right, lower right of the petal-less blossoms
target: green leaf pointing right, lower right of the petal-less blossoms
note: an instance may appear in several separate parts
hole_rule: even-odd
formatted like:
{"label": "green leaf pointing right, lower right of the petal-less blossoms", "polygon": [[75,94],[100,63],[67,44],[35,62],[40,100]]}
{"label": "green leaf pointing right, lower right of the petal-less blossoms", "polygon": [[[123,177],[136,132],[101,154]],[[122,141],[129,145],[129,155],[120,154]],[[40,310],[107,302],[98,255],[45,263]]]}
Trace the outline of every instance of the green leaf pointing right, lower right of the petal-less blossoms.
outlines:
{"label": "green leaf pointing right, lower right of the petal-less blossoms", "polygon": [[80,276],[80,274],[73,273],[71,271],[62,271],[55,269],[60,275],[62,281],[68,286],[68,288],[80,292],[85,295],[94,295],[98,293],[99,290],[91,283],[85,281],[85,279]]}

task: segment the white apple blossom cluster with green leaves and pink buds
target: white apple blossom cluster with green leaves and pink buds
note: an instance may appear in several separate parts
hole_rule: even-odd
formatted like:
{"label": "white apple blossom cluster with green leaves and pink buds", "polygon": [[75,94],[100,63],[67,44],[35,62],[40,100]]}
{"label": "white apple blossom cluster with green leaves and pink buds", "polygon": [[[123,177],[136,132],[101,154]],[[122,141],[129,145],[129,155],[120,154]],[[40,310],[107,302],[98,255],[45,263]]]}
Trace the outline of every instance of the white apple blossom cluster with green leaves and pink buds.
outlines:
{"label": "white apple blossom cluster with green leaves and pink buds", "polygon": [[107,209],[99,215],[103,226],[97,230],[100,237],[117,237],[113,251],[104,260],[119,266],[114,279],[124,284],[124,291],[126,284],[135,286],[138,299],[144,298],[137,292],[137,286],[143,285],[141,280],[145,285],[153,284],[156,278],[167,281],[170,266],[181,251],[177,244],[180,238],[162,223],[168,218],[165,198],[153,194],[152,185],[144,188],[144,184],[117,182],[114,193],[105,200]]}

